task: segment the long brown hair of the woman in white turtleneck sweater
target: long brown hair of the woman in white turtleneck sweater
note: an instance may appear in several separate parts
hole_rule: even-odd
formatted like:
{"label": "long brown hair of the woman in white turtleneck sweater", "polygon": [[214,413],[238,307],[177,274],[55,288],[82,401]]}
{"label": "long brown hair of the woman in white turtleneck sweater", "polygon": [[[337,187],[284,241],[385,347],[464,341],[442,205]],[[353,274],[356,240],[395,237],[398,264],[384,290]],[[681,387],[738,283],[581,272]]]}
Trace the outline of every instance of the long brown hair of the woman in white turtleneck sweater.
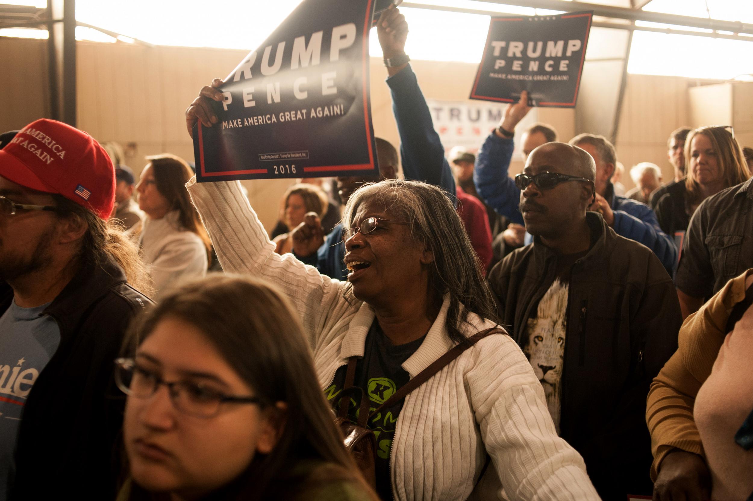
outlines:
{"label": "long brown hair of the woman in white turtleneck sweater", "polygon": [[209,235],[206,234],[206,229],[199,218],[199,212],[191,203],[191,197],[188,196],[185,187],[188,180],[194,177],[191,166],[181,157],[169,153],[146,157],[146,159],[151,163],[151,171],[154,175],[154,184],[157,185],[157,191],[166,198],[167,203],[170,204],[170,210],[178,211],[180,214],[178,221],[181,226],[199,236],[209,255],[212,242],[209,240]]}

